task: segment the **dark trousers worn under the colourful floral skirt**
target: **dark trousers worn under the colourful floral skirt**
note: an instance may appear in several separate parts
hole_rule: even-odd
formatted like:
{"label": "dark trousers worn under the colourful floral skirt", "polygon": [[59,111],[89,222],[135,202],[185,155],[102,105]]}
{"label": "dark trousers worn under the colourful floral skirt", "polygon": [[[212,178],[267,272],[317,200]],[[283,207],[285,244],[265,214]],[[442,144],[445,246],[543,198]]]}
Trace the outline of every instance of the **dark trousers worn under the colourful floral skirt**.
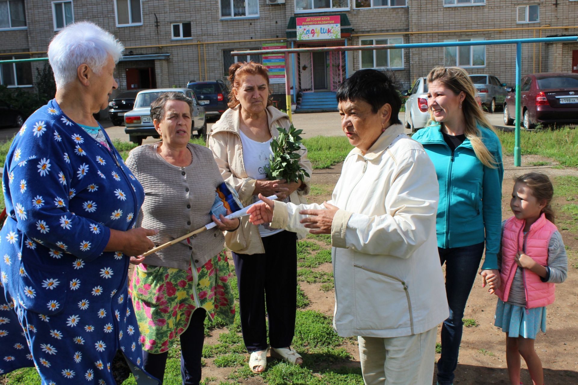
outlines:
{"label": "dark trousers worn under the colourful floral skirt", "polygon": [[[195,309],[187,330],[180,335],[181,376],[183,385],[198,385],[201,382],[201,354],[205,342],[205,317],[203,308]],[[161,380],[165,375],[166,358],[169,352],[153,354],[143,349],[144,370]]]}

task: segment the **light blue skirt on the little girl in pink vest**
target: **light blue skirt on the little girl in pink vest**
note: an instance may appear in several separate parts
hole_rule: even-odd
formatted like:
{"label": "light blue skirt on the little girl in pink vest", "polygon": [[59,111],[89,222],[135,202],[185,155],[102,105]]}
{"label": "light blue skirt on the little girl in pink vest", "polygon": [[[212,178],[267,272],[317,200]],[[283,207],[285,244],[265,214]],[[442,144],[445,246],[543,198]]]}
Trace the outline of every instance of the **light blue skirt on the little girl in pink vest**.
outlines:
{"label": "light blue skirt on the little girl in pink vest", "polygon": [[508,337],[536,339],[538,331],[546,332],[546,306],[528,309],[510,305],[498,298],[494,326],[501,327]]}

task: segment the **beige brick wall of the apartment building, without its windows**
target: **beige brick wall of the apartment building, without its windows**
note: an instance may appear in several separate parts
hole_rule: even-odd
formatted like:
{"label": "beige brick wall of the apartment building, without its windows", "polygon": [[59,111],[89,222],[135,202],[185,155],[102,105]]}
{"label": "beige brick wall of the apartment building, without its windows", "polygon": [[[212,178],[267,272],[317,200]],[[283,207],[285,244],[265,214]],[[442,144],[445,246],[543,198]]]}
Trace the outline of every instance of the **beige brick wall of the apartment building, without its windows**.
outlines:
{"label": "beige brick wall of the apartment building, without its windows", "polygon": [[[350,0],[350,10],[345,11],[354,29],[354,35],[365,33],[395,33],[403,36],[404,43],[436,42],[444,39],[480,38],[521,39],[538,37],[539,31],[524,30],[527,27],[550,25],[543,29],[542,36],[572,35],[578,29],[551,29],[576,25],[578,1],[539,0],[531,2],[540,5],[539,23],[517,24],[516,6],[527,5],[524,0],[487,0],[482,6],[443,6],[443,0],[407,0],[407,7],[355,9]],[[24,31],[0,31],[0,53],[14,51],[46,51],[54,35],[51,0],[25,0],[28,29]],[[154,61],[158,87],[184,86],[195,79],[223,79],[223,50],[239,50],[261,47],[261,42],[250,40],[264,38],[284,38],[287,22],[295,14],[295,0],[287,0],[284,5],[267,5],[259,0],[260,16],[221,20],[218,0],[142,0],[142,25],[116,27],[114,0],[88,1],[73,0],[75,20],[91,20],[108,29],[134,54],[168,53],[166,61]],[[328,14],[337,14],[335,12]],[[155,17],[156,15],[156,17]],[[155,24],[158,22],[158,27]],[[190,40],[171,40],[171,23],[191,21],[193,36]],[[512,31],[466,32],[466,29],[513,28]],[[434,31],[456,31],[438,33]],[[407,33],[417,32],[417,33]],[[421,32],[421,33],[420,33]],[[386,36],[387,37],[387,36]],[[360,36],[353,36],[348,44],[359,44]],[[195,45],[171,46],[187,42],[220,42],[224,40],[249,40],[243,43],[206,44],[199,49]],[[131,48],[136,46],[147,46]],[[549,44],[524,44],[522,52],[522,72],[531,73],[547,70],[569,71],[572,50],[576,44],[559,44],[561,48]],[[541,51],[541,55],[540,55]],[[555,52],[555,54],[554,54]],[[360,53],[352,51],[349,56],[349,73],[360,68]],[[540,60],[541,57],[541,60]],[[467,68],[477,73],[491,73],[504,82],[513,84],[515,76],[516,49],[513,45],[487,46],[486,65],[481,68]],[[206,65],[205,65],[206,62]],[[540,65],[541,62],[541,65]],[[151,65],[153,62],[148,63]],[[41,64],[39,64],[41,65]],[[121,62],[117,68],[121,87],[125,86],[124,70],[131,66],[144,65],[143,62]],[[398,80],[405,87],[424,76],[436,65],[443,65],[443,48],[414,48],[404,51],[404,69],[396,70]],[[33,66],[33,74],[35,67]],[[291,70],[288,71],[291,76]],[[124,84],[124,86],[123,86]],[[282,93],[283,85],[272,85],[273,92]]]}

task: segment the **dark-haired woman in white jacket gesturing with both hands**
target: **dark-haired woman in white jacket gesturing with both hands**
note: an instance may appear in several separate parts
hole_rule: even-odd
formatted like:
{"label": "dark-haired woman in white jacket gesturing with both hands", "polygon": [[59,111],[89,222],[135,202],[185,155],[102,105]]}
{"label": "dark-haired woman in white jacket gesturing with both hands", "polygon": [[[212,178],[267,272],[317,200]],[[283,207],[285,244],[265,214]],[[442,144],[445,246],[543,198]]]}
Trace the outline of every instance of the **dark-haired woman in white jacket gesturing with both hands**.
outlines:
{"label": "dark-haired woman in white jacket gesturing with both hands", "polygon": [[332,199],[266,201],[249,220],[331,234],[334,327],[342,337],[358,336],[365,383],[431,383],[436,326],[448,316],[435,169],[421,144],[403,134],[392,74],[360,70],[340,85],[337,99],[355,148]]}

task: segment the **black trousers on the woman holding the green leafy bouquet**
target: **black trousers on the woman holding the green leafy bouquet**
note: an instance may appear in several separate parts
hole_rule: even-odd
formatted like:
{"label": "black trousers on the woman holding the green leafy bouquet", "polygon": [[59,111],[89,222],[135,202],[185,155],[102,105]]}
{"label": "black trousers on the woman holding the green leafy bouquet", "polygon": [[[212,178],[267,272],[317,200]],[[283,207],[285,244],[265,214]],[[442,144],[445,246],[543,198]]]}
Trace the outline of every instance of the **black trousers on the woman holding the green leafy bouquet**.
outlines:
{"label": "black trousers on the woman holding the green leafy bouquet", "polygon": [[[264,254],[233,253],[243,341],[249,352],[291,345],[297,309],[297,235],[281,231],[262,238]],[[266,313],[265,313],[266,302]]]}

